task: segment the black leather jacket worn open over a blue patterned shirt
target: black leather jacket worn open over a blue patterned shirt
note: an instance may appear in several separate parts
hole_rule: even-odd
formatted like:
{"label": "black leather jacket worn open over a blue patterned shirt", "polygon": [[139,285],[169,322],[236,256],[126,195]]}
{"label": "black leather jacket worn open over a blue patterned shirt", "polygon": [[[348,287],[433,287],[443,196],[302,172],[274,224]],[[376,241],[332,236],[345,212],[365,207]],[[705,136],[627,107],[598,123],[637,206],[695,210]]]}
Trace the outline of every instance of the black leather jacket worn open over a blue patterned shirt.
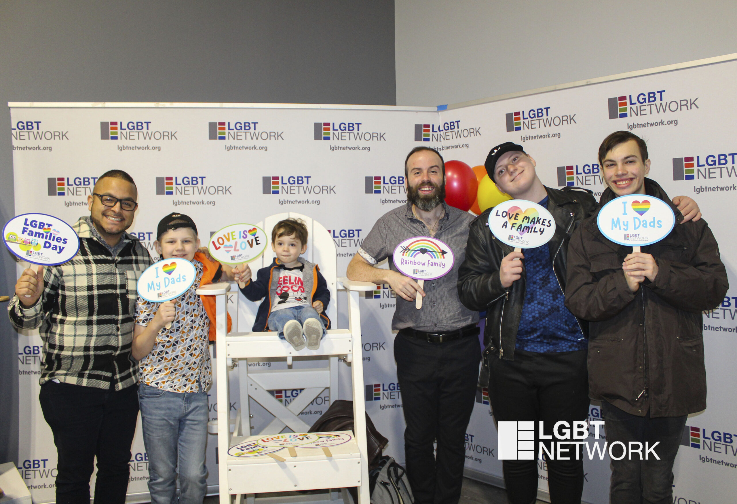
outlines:
{"label": "black leather jacket worn open over a blue patterned shirt", "polygon": [[[586,189],[551,189],[548,191],[548,211],[553,214],[556,231],[548,242],[553,262],[553,272],[560,289],[565,293],[566,256],[568,241],[573,230],[582,220],[598,209],[598,203]],[[489,231],[489,213],[483,211],[470,224],[466,259],[458,270],[458,295],[461,303],[469,309],[480,312],[486,310],[486,328],[483,332],[483,366],[479,375],[479,385],[489,383],[489,358],[496,355],[500,359],[514,360],[514,343],[517,340],[517,327],[525,301],[525,272],[522,278],[514,281],[511,287],[502,287],[499,267],[502,259],[514,251],[494,237]],[[588,337],[588,324],[579,320],[581,332]]]}

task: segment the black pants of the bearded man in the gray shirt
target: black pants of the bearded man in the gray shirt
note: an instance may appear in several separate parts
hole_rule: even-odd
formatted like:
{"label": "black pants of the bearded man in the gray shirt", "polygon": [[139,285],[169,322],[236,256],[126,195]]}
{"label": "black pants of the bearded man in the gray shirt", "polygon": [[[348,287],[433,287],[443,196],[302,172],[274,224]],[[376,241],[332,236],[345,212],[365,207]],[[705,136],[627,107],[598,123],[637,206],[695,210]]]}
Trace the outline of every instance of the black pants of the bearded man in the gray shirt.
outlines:
{"label": "black pants of the bearded man in the gray shirt", "polygon": [[478,337],[427,343],[397,335],[394,359],[407,422],[407,477],[415,502],[458,503],[466,461],[466,427],[481,360]]}

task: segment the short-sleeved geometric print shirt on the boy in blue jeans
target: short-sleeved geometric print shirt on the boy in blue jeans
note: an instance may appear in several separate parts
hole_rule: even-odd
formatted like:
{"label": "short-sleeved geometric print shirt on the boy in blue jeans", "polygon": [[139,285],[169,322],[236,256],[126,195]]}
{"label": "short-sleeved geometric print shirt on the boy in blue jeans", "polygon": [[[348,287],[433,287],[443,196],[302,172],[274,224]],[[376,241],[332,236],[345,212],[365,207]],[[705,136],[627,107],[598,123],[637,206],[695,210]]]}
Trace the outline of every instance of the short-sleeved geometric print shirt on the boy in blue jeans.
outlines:
{"label": "short-sleeved geometric print shirt on the boy in blue jeans", "polygon": [[[212,383],[209,352],[209,324],[202,298],[195,294],[202,279],[202,263],[194,260],[195,283],[186,293],[172,301],[176,315],[170,329],[156,335],[153,349],[139,362],[139,379],[151,387],[169,392],[206,391]],[[136,324],[147,326],[156,315],[160,303],[138,298]]]}

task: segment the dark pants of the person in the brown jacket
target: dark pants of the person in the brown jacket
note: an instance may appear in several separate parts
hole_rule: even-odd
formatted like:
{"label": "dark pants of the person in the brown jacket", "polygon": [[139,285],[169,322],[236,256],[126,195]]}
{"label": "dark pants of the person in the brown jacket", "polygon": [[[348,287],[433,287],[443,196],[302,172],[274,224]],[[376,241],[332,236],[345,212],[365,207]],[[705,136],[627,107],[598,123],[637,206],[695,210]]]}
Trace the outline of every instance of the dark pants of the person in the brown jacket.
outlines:
{"label": "dark pants of the person in the brown jacket", "polygon": [[[629,442],[638,441],[649,447],[660,441],[654,452],[660,460],[653,458],[652,452],[647,460],[640,461],[637,453],[632,460],[626,455],[620,461],[612,459],[612,482],[609,486],[611,504],[671,504],[673,503],[673,462],[680,446],[683,427],[688,416],[660,416],[650,418],[635,416],[620,410],[606,401],[601,402],[604,415],[604,430],[611,445],[621,441],[626,447]],[[612,450],[615,457],[621,455],[621,446]]]}

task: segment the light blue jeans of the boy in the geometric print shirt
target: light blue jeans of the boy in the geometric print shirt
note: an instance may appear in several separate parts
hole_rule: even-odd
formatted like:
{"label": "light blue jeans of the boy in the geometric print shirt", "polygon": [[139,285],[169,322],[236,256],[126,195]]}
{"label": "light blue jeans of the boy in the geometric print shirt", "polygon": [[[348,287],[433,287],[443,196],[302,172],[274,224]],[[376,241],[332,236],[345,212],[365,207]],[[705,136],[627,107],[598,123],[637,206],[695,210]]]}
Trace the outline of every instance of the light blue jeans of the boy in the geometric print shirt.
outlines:
{"label": "light blue jeans of the boy in the geometric print shirt", "polygon": [[151,503],[202,504],[207,492],[207,393],[168,392],[142,383],[139,404]]}

